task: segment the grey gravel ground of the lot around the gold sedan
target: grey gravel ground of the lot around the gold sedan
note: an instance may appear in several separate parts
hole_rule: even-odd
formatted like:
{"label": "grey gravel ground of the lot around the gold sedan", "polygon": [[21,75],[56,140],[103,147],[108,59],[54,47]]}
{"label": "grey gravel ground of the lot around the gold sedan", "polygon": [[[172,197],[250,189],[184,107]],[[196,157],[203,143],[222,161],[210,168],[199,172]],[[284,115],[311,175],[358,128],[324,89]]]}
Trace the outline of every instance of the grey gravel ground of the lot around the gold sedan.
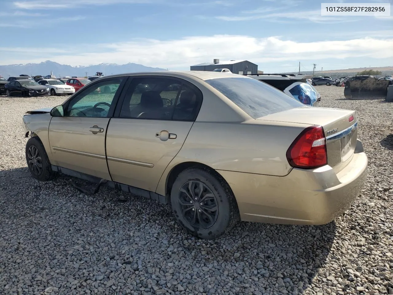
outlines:
{"label": "grey gravel ground of the lot around the gold sedan", "polygon": [[327,225],[239,223],[215,241],[185,234],[168,206],[142,197],[30,177],[22,115],[66,97],[1,96],[0,293],[393,294],[393,103],[317,88],[321,106],[358,111],[362,194]]}

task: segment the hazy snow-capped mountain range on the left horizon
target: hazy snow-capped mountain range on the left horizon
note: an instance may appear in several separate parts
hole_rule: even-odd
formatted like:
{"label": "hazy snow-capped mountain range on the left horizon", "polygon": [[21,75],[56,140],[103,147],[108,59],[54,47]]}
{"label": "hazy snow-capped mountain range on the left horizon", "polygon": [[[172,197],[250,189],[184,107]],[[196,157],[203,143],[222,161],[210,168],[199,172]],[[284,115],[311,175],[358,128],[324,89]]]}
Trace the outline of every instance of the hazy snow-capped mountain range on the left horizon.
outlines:
{"label": "hazy snow-capped mountain range on the left horizon", "polygon": [[133,72],[151,72],[151,71],[165,71],[163,68],[152,68],[136,63],[127,63],[125,65],[117,65],[114,63],[100,63],[99,65],[90,66],[70,66],[61,65],[54,61],[44,61],[42,63],[28,63],[20,65],[5,65],[0,66],[0,76],[8,78],[9,76],[19,76],[20,74],[27,74],[29,76],[46,76],[50,72],[56,77],[64,76],[94,76],[96,72],[102,72],[105,76],[111,74],[123,74]]}

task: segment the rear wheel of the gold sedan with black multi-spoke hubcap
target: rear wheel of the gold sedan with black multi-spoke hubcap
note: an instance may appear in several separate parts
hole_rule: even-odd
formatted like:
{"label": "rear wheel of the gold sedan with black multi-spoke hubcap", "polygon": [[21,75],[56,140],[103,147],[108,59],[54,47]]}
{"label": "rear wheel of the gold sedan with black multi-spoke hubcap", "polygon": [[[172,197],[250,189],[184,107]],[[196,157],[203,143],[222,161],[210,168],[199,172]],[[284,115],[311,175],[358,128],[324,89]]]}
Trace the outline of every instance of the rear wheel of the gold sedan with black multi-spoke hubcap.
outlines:
{"label": "rear wheel of the gold sedan with black multi-spoke hubcap", "polygon": [[201,168],[188,168],[178,175],[171,190],[171,205],[180,225],[197,238],[218,238],[240,219],[228,184]]}

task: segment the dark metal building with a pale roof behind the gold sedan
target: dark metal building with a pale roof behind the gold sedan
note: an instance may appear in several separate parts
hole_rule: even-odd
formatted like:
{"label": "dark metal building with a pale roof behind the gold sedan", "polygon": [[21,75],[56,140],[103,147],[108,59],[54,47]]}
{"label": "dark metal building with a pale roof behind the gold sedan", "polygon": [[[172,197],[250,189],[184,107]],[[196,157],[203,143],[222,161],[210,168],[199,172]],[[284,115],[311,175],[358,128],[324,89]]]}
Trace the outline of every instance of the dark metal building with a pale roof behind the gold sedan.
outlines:
{"label": "dark metal building with a pale roof behind the gold sedan", "polygon": [[258,65],[249,61],[222,61],[214,59],[213,63],[200,63],[198,65],[190,66],[191,71],[213,71],[217,68],[227,68],[233,74],[257,74]]}

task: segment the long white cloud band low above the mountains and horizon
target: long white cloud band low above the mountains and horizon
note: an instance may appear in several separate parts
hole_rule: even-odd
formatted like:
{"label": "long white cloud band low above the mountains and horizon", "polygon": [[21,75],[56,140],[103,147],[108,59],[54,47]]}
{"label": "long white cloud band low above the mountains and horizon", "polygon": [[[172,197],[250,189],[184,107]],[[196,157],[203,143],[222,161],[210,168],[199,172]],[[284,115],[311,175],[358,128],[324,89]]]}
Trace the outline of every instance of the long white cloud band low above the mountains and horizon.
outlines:
{"label": "long white cloud band low above the mountains and horizon", "polygon": [[[229,46],[228,46],[229,45]],[[52,45],[53,47],[53,45]],[[61,49],[57,49],[61,48]],[[83,48],[83,51],[81,50]],[[240,35],[185,37],[177,40],[134,39],[111,44],[79,44],[40,48],[27,55],[26,48],[0,48],[0,64],[35,63],[50,59],[62,64],[140,63],[170,69],[187,69],[190,65],[221,60],[248,59],[261,67],[268,62],[298,60],[373,58],[393,61],[393,39],[374,37],[345,41],[296,42],[280,37],[254,38]],[[388,60],[386,60],[388,62]]]}

